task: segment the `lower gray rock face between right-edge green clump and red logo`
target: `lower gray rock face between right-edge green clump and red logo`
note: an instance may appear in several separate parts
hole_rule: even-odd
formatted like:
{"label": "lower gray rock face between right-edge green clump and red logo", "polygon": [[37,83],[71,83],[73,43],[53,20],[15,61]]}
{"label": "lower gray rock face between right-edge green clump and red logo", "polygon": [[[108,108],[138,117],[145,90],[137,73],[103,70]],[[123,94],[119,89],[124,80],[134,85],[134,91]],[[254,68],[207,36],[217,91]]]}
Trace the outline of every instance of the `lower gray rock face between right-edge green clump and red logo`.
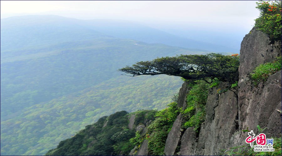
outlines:
{"label": "lower gray rock face between right-edge green clump and red logo", "polygon": [[[278,82],[277,82],[278,81]],[[240,129],[247,127],[257,132],[257,125],[267,127],[267,137],[279,137],[281,133],[281,71],[271,75],[267,82],[254,86],[247,78],[239,85]]]}

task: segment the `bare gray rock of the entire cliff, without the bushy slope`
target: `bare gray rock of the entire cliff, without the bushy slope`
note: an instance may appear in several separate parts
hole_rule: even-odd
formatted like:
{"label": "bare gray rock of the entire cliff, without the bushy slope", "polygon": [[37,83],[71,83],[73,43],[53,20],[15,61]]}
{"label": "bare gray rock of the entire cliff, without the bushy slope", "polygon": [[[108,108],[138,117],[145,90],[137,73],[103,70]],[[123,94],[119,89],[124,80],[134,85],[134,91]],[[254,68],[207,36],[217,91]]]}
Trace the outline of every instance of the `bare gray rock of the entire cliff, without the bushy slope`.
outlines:
{"label": "bare gray rock of the entire cliff, without the bushy slope", "polygon": [[[249,74],[259,65],[281,56],[281,42],[270,44],[266,34],[253,28],[241,43],[237,93],[227,91],[221,82],[209,90],[206,103],[206,119],[199,133],[193,128],[181,128],[181,114],[175,120],[165,144],[166,155],[218,155],[222,150],[244,143],[247,133],[258,133],[257,125],[266,127],[267,137],[281,135],[281,70],[266,82],[254,85]],[[187,89],[185,83],[180,95]],[[238,96],[237,96],[237,95]],[[180,106],[185,107],[185,96],[179,96]],[[183,104],[184,103],[184,104]],[[239,133],[238,133],[239,132]],[[180,146],[180,150],[177,147]]]}

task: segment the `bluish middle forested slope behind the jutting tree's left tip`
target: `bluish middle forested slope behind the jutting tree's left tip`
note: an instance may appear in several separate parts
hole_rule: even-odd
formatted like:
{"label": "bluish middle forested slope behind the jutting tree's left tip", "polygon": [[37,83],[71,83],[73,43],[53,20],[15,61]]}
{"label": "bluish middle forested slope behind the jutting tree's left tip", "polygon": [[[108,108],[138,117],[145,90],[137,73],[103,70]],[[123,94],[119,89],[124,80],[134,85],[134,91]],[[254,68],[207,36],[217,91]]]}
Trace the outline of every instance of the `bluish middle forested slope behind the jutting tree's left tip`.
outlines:
{"label": "bluish middle forested slope behind the jutting tree's left tip", "polygon": [[116,77],[120,75],[117,68],[134,62],[136,56],[141,59],[191,53],[177,47],[116,38],[61,43],[24,52],[13,50],[6,56],[4,51],[1,57],[1,103],[9,103],[1,105],[1,120],[7,117],[4,113]]}

